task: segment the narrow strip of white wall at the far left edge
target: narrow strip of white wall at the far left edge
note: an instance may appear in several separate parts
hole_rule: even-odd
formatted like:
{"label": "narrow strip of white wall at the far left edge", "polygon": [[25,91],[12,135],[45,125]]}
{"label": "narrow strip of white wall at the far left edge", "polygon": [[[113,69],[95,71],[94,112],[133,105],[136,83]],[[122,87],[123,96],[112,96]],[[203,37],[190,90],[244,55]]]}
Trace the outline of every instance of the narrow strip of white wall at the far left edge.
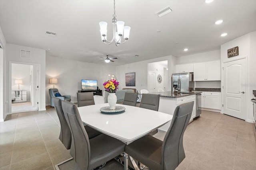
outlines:
{"label": "narrow strip of white wall at the far left edge", "polygon": [[6,40],[0,26],[0,122],[4,121],[7,115],[7,98],[6,98]]}

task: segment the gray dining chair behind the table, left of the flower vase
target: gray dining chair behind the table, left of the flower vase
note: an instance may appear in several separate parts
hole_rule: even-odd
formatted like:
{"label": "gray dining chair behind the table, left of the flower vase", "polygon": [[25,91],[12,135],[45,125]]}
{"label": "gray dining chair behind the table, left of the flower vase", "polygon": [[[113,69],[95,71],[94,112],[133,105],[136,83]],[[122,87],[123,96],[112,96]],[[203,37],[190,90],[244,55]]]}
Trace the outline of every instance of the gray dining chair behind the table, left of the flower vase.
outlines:
{"label": "gray dining chair behind the table, left of the flower vase", "polygon": [[93,92],[77,93],[77,106],[89,106],[94,105]]}

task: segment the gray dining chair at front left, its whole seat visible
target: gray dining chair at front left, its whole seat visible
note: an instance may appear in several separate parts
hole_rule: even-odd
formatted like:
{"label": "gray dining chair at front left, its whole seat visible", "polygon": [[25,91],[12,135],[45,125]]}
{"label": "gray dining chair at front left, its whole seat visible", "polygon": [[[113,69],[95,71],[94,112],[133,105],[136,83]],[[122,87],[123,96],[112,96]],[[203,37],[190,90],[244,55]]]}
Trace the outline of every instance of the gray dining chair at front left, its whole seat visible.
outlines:
{"label": "gray dining chair at front left, its whole seat visible", "polygon": [[89,139],[75,104],[62,101],[62,109],[74,141],[70,155],[82,170],[92,170],[124,152],[125,144],[108,135]]}

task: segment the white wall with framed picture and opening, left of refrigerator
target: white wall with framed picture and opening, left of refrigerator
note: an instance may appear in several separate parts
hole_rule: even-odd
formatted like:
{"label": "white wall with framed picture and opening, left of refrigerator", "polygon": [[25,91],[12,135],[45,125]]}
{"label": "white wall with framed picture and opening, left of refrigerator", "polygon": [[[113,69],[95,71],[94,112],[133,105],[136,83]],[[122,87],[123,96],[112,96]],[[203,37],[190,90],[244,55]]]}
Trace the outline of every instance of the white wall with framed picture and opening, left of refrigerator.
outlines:
{"label": "white wall with framed picture and opening, left of refrigerator", "polygon": [[[119,88],[136,88],[138,92],[140,92],[141,89],[148,89],[148,63],[168,60],[168,75],[172,75],[172,73],[174,72],[175,58],[176,57],[170,55],[165,57],[159,57],[156,59],[116,66],[116,76],[118,77],[118,81],[120,82]],[[125,86],[125,73],[128,72],[136,73],[135,87]],[[166,90],[171,90],[171,76],[168,76]]]}

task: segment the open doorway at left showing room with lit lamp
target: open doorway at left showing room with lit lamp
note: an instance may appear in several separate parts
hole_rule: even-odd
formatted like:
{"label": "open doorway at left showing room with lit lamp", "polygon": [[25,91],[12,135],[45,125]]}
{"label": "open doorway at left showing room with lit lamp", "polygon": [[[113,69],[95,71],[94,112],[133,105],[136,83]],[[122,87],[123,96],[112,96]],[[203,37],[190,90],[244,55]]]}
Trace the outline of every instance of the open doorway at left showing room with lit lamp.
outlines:
{"label": "open doorway at left showing room with lit lamp", "polygon": [[10,63],[10,113],[37,111],[38,64]]}

